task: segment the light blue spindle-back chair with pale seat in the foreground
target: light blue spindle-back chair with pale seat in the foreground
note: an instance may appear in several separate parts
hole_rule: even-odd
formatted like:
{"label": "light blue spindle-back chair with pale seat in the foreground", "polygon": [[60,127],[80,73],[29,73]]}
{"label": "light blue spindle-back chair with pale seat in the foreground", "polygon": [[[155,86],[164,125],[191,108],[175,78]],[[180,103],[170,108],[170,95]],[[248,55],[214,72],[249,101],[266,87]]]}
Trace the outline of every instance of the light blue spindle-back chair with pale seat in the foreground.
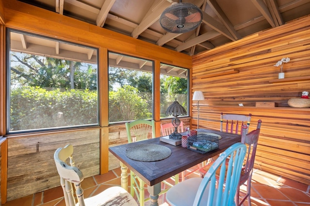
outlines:
{"label": "light blue spindle-back chair with pale seat in the foreground", "polygon": [[[234,206],[246,150],[247,147],[242,143],[227,148],[203,178],[193,177],[173,186],[167,192],[167,202],[171,206]],[[229,162],[226,169],[227,158]],[[218,168],[220,173],[217,181]]]}

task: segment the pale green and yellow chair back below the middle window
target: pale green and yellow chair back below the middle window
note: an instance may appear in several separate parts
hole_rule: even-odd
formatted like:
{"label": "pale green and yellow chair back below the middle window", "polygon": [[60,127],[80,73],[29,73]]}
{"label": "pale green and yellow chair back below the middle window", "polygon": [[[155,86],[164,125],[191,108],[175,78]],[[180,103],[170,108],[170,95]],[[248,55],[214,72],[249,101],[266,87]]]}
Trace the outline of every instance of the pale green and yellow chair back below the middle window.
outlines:
{"label": "pale green and yellow chair back below the middle window", "polygon": [[133,139],[136,142],[148,139],[150,134],[152,135],[152,138],[155,138],[154,120],[138,119],[130,123],[126,122],[125,126],[127,131],[128,143],[132,143]]}

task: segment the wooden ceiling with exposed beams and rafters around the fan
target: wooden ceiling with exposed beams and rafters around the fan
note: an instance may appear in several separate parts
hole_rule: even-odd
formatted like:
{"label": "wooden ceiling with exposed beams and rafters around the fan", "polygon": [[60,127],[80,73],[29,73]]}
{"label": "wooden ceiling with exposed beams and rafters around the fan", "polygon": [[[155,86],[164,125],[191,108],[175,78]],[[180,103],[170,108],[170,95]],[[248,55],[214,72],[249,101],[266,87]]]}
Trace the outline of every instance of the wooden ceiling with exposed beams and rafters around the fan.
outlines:
{"label": "wooden ceiling with exposed beams and rafters around the fan", "polygon": [[183,0],[201,8],[202,24],[183,34],[159,23],[178,0],[20,0],[133,38],[194,55],[310,15],[310,0]]}

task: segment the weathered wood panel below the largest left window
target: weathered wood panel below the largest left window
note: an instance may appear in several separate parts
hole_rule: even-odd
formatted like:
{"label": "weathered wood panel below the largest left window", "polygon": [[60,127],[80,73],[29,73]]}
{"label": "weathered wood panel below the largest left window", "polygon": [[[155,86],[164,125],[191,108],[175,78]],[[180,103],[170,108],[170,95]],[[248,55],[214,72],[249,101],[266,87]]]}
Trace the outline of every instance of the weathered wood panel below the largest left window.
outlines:
{"label": "weathered wood panel below the largest left window", "polygon": [[85,178],[99,174],[99,139],[99,129],[9,137],[7,200],[59,186],[54,152],[67,144]]}

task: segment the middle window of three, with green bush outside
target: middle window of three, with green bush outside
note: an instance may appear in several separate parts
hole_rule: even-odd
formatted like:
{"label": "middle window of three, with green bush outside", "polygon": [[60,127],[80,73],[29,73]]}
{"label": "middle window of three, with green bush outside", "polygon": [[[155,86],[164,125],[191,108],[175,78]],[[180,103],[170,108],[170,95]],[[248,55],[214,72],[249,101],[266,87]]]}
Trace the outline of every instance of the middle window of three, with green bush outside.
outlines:
{"label": "middle window of three, with green bush outside", "polygon": [[109,52],[109,123],[153,118],[153,61]]}

